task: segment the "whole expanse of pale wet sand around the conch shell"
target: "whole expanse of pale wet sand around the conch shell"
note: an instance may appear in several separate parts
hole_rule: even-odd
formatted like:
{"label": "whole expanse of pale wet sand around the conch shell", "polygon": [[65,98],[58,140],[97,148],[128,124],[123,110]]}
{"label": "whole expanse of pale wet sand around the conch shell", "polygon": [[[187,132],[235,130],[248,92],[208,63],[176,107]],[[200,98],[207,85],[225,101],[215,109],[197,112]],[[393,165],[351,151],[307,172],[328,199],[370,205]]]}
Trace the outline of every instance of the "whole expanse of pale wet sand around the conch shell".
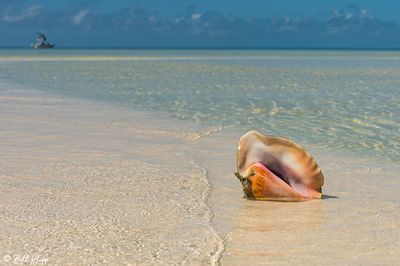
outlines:
{"label": "whole expanse of pale wet sand around the conch shell", "polygon": [[0,262],[396,265],[398,165],[307,147],[323,200],[249,201],[234,127],[0,93]]}

